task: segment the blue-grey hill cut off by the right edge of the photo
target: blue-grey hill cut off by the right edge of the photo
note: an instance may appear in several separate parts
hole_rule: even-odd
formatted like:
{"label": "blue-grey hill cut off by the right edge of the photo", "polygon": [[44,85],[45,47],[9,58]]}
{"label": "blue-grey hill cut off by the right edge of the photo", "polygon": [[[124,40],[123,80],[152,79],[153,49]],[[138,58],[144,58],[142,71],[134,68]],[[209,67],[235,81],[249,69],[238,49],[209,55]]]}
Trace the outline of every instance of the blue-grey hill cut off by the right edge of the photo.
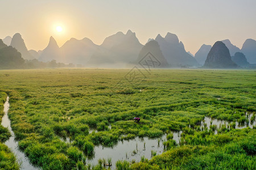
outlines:
{"label": "blue-grey hill cut off by the right edge of the photo", "polygon": [[242,46],[241,52],[245,54],[249,63],[256,63],[256,41],[247,39]]}

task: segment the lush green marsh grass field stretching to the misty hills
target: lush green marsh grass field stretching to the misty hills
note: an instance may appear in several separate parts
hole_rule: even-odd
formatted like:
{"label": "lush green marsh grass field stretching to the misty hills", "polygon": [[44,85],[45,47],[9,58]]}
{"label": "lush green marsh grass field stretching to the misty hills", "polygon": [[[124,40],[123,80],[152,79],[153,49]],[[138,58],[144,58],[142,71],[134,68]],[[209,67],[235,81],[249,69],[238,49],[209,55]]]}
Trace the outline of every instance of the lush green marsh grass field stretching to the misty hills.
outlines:
{"label": "lush green marsh grass field stretching to the misty hills", "polygon": [[[222,128],[214,135],[214,130],[200,131],[198,125],[205,116],[240,124],[254,121],[256,71],[143,70],[135,78],[127,73],[0,70],[0,93],[10,96],[11,126],[31,163],[43,169],[88,169],[85,159],[95,145],[114,146],[123,135],[158,138],[183,130],[180,146],[170,139],[164,154],[131,165],[120,161],[116,167],[256,168],[255,126]],[[246,112],[253,114],[251,120]],[[141,122],[134,124],[134,117],[141,117]],[[89,129],[98,133],[89,134]],[[102,168],[101,163],[93,167]]]}

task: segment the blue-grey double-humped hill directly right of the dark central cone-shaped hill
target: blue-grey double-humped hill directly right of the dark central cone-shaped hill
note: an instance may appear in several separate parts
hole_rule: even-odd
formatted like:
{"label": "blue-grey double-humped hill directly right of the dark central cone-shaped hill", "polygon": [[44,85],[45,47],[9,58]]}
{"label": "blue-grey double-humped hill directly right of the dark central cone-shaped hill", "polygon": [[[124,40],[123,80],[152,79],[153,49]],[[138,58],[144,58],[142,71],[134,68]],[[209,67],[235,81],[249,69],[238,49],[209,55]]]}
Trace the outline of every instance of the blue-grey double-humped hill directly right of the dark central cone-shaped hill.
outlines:
{"label": "blue-grey double-humped hill directly right of the dark central cone-shaped hill", "polygon": [[160,45],[160,49],[171,67],[199,65],[196,59],[185,51],[183,43],[175,34],[168,32],[164,38],[159,34],[155,41]]}

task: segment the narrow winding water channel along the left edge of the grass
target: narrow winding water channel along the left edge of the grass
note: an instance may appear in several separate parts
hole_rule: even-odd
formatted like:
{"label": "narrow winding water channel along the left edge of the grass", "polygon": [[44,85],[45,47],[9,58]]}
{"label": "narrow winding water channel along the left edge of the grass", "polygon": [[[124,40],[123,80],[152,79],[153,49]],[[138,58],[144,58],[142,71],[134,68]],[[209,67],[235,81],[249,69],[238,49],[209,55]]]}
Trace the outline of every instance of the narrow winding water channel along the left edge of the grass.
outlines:
{"label": "narrow winding water channel along the left edge of the grass", "polygon": [[9,138],[8,141],[5,142],[5,145],[8,146],[10,150],[15,154],[16,158],[18,159],[18,162],[21,164],[20,169],[26,169],[26,170],[39,169],[39,168],[35,168],[33,165],[30,164],[25,154],[19,150],[18,142],[14,140],[15,135],[13,133],[13,130],[11,130],[11,121],[8,117],[8,111],[10,107],[9,97],[7,97],[5,105],[3,106],[4,106],[3,112],[5,113],[5,115],[2,117],[1,125],[5,128],[8,128],[8,130],[11,133],[11,137]]}

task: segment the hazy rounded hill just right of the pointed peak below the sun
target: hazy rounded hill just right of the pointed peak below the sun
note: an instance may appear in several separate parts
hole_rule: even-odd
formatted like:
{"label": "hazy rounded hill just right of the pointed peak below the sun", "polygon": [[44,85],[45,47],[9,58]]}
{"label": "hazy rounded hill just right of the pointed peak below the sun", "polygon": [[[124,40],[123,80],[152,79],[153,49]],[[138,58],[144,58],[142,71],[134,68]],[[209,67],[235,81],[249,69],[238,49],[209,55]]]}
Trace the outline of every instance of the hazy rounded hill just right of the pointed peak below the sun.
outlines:
{"label": "hazy rounded hill just right of the pointed peak below the sun", "polygon": [[72,38],[60,48],[63,57],[61,62],[86,65],[97,48],[98,45],[88,38],[82,40]]}

